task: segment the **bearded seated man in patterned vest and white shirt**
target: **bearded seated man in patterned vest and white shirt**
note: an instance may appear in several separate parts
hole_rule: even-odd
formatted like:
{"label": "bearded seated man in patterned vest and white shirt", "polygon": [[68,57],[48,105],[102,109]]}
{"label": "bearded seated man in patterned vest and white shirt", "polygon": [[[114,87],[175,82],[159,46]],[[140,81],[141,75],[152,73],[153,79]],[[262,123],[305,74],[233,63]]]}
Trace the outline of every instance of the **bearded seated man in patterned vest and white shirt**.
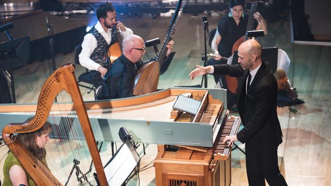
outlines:
{"label": "bearded seated man in patterned vest and white shirt", "polygon": [[[79,54],[79,63],[81,66],[90,70],[90,78],[94,85],[99,87],[101,77],[107,69],[105,68],[104,51],[117,42],[117,30],[121,30],[121,37],[125,38],[133,34],[130,28],[124,26],[120,21],[116,21],[116,10],[112,3],[105,3],[97,9],[98,22],[91,28],[84,37],[81,44],[82,50]],[[116,29],[113,29],[116,26]]]}

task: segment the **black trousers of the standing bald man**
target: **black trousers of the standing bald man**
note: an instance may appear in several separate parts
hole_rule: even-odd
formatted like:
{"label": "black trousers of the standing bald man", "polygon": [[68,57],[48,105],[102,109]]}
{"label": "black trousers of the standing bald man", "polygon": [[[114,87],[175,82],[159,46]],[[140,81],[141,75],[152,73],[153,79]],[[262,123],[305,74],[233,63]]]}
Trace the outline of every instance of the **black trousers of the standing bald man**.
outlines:
{"label": "black trousers of the standing bald man", "polygon": [[287,185],[278,167],[277,147],[263,150],[245,149],[249,185],[265,186],[264,179],[270,186]]}

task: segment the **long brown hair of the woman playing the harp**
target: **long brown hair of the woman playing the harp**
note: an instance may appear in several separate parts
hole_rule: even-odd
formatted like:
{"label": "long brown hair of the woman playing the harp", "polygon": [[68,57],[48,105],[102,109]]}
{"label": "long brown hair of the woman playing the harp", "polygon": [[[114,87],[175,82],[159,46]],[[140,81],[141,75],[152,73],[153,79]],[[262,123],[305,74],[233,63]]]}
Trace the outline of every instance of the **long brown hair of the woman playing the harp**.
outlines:
{"label": "long brown hair of the woman playing the harp", "polygon": [[[25,122],[29,122],[34,117],[30,117],[26,119]],[[37,131],[30,133],[19,133],[17,134],[17,138],[25,145],[25,147],[32,153],[36,158],[42,160],[46,156],[46,150],[44,148],[39,148],[36,144],[36,137],[45,134],[45,132],[51,131],[51,125],[48,121],[38,129]]]}

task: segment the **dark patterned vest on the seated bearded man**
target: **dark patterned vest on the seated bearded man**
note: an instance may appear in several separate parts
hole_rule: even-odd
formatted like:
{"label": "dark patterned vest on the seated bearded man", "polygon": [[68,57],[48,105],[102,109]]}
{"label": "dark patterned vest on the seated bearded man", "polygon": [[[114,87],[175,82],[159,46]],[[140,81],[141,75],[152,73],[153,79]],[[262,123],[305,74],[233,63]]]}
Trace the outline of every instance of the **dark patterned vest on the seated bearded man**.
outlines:
{"label": "dark patterned vest on the seated bearded man", "polygon": [[98,46],[93,50],[90,58],[95,63],[101,66],[105,66],[106,61],[103,57],[103,52],[107,51],[109,46],[117,42],[116,27],[115,29],[114,28],[112,29],[112,41],[109,45],[107,44],[106,40],[102,37],[102,35],[98,32],[98,30],[95,29],[94,26],[90,29],[89,33],[92,34],[97,39],[98,42]]}

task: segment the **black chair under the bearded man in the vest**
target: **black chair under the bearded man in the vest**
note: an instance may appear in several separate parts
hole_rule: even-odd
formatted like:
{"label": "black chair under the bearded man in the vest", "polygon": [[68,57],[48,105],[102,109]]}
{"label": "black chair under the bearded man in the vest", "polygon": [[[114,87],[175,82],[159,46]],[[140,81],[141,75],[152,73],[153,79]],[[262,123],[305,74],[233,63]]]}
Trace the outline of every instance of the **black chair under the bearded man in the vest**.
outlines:
{"label": "black chair under the bearded man in the vest", "polygon": [[[81,52],[81,43],[78,44],[76,47],[75,47],[75,63],[77,65],[80,65],[79,63],[79,54]],[[80,82],[84,82],[84,83],[88,83],[88,84],[91,84],[92,86],[87,86],[87,85],[83,85],[83,84],[80,84]],[[96,87],[94,86],[94,83],[90,77],[90,71],[88,69],[86,69],[86,72],[85,73],[82,73],[78,76],[78,85],[81,86],[81,87],[84,87],[84,88],[88,88],[90,89],[90,91],[88,92],[88,94],[90,94],[90,92],[93,90],[94,91],[94,95],[95,95],[95,90],[96,90]]]}

